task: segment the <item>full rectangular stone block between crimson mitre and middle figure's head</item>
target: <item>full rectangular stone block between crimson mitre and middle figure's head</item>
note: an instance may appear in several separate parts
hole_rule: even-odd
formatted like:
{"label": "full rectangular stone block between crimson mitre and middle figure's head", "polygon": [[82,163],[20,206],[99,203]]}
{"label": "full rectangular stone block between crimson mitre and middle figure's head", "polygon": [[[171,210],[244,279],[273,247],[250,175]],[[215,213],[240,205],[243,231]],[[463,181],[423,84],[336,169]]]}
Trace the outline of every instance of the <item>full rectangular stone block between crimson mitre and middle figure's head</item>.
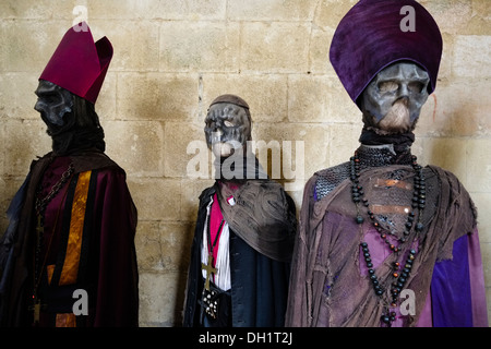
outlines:
{"label": "full rectangular stone block between crimson mitre and middle figure's head", "polygon": [[197,76],[120,73],[118,118],[123,120],[192,120],[197,110]]}

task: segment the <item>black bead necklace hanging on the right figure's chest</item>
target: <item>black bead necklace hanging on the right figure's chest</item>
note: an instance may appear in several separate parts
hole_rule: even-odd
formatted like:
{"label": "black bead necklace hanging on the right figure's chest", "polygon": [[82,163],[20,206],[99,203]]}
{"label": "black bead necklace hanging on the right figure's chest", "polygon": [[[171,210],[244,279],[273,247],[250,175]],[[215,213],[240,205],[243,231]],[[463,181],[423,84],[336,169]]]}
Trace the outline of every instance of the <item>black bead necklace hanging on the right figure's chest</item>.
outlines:
{"label": "black bead necklace hanging on the right figure's chest", "polygon": [[[369,209],[370,204],[369,204],[367,197],[364,197],[363,188],[360,185],[360,182],[359,182],[360,160],[358,158],[357,153],[355,153],[355,156],[352,156],[350,158],[350,165],[351,165],[350,180],[352,182],[351,198],[357,207],[357,216],[355,218],[356,222],[360,226],[360,229],[361,229],[361,225],[364,221],[364,219],[360,213],[360,203],[362,203],[362,205],[364,207],[367,207],[367,214],[368,214],[370,220],[372,221],[372,225],[375,227],[376,231],[379,232],[381,239],[390,246],[390,249],[394,253],[399,253],[402,251],[402,245],[404,243],[406,243],[407,241],[409,241],[409,236],[411,234],[411,232],[416,231],[418,233],[418,232],[422,231],[422,229],[424,228],[424,225],[421,221],[421,217],[422,217],[421,213],[422,213],[422,209],[424,208],[424,204],[426,204],[426,183],[424,183],[424,174],[422,172],[422,167],[417,164],[417,158],[416,158],[416,156],[412,155],[411,156],[411,166],[412,166],[416,174],[414,177],[414,195],[412,195],[412,202],[411,202],[411,210],[409,210],[409,213],[408,213],[407,221],[404,226],[405,230],[404,230],[403,236],[397,237],[399,245],[395,245],[394,243],[392,243],[388,240],[388,237],[387,237],[387,233],[394,234],[394,232],[385,231],[380,226],[380,224],[375,220],[375,215]],[[418,210],[418,217],[417,217],[418,221],[416,222],[416,225],[414,225],[415,218],[416,218],[415,210]],[[385,293],[385,289],[383,288],[383,286],[379,281],[378,276],[375,275],[375,270],[373,268],[373,263],[372,263],[371,255],[370,255],[369,245],[367,242],[361,242],[360,245],[361,245],[363,258],[364,258],[364,262],[366,262],[366,265],[368,268],[368,273],[370,275],[370,280],[373,286],[373,290],[378,297],[382,298],[383,294]],[[416,251],[411,249],[408,253],[406,263],[403,268],[400,268],[402,266],[400,266],[399,262],[394,262],[394,264],[393,264],[392,276],[394,278],[394,281],[392,282],[392,287],[391,287],[391,298],[392,298],[391,303],[390,303],[391,308],[397,306],[399,293],[403,290],[405,284],[407,282],[408,278],[409,278],[409,275],[410,275],[410,272],[412,268],[412,262],[414,262],[415,257],[416,257]],[[384,324],[391,326],[392,322],[395,321],[395,317],[396,317],[396,313],[394,311],[390,311],[388,306],[386,306],[384,314],[381,317],[381,321]]]}

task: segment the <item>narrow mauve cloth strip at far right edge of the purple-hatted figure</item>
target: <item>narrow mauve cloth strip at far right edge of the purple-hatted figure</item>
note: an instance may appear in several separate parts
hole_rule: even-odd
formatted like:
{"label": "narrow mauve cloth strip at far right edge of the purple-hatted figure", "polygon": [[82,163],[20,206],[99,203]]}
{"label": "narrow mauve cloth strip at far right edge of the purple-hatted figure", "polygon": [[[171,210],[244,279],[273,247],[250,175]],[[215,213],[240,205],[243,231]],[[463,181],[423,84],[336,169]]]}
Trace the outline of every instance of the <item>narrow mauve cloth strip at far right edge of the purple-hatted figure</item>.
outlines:
{"label": "narrow mauve cloth strip at far right edge of the purple-hatted figure", "polygon": [[470,292],[472,296],[472,324],[475,327],[488,327],[484,270],[482,267],[481,249],[477,229],[469,236],[468,240]]}

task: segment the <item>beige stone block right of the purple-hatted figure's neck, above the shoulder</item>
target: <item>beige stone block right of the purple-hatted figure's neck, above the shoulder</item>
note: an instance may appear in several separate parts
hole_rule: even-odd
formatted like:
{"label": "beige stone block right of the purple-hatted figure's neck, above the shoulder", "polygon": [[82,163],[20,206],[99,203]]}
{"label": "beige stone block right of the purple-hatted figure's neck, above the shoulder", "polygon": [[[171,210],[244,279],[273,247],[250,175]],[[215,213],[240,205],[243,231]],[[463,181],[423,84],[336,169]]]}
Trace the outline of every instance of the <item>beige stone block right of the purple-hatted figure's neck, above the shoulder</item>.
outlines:
{"label": "beige stone block right of the purple-hatted figure's neck, above the shoulder", "polygon": [[434,165],[454,173],[465,185],[467,183],[466,140],[424,139],[420,165]]}

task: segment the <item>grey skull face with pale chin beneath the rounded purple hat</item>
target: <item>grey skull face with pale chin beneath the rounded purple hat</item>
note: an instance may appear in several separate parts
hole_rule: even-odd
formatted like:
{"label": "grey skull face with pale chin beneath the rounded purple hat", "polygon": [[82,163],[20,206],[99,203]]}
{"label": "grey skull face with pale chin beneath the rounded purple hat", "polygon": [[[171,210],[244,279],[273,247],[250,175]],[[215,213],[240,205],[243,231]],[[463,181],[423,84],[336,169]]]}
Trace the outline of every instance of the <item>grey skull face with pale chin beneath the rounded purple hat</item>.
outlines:
{"label": "grey skull face with pale chin beneath the rounded purple hat", "polygon": [[360,98],[363,121],[386,133],[412,131],[428,99],[428,72],[411,62],[382,70]]}

